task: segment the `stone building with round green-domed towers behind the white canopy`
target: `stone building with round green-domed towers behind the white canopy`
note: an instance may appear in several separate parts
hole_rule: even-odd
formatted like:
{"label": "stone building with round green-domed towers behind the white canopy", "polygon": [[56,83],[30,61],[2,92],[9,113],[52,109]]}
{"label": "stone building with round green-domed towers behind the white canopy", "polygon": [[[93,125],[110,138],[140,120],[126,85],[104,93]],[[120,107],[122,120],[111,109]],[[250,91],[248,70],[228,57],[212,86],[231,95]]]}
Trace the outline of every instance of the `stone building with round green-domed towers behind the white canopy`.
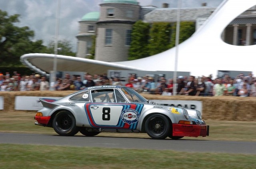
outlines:
{"label": "stone building with round green-domed towers behind the white canopy", "polygon": [[[180,20],[196,23],[196,29],[207,20],[217,7],[203,3],[197,8],[181,8]],[[137,0],[104,0],[100,12],[90,12],[82,17],[77,45],[77,57],[90,55],[92,36],[96,35],[95,60],[107,62],[127,61],[132,25],[143,20],[147,23],[175,23],[177,8],[140,6]],[[224,42],[232,45],[256,44],[256,8],[246,10],[222,33]]]}

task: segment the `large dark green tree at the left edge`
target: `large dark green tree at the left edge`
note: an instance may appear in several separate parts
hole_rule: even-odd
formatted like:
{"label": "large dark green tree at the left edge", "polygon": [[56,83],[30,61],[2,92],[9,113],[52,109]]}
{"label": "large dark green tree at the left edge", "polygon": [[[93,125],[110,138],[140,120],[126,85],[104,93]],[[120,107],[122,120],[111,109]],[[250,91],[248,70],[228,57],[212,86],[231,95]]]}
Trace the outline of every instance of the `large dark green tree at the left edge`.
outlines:
{"label": "large dark green tree at the left edge", "polygon": [[18,27],[20,15],[8,16],[0,10],[0,64],[4,66],[21,65],[20,56],[43,49],[42,40],[32,41],[34,31],[28,26]]}

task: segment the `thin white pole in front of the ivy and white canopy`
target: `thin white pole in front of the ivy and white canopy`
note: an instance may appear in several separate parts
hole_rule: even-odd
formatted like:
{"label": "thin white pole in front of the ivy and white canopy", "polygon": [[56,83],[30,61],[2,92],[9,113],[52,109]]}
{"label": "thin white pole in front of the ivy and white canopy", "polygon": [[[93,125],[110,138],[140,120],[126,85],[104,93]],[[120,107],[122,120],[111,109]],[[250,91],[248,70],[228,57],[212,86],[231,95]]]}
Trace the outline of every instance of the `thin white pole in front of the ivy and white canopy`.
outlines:
{"label": "thin white pole in front of the ivy and white canopy", "polygon": [[176,39],[175,39],[175,65],[174,65],[174,75],[173,75],[173,90],[172,95],[176,95],[177,91],[177,69],[178,69],[178,51],[179,51],[179,38],[180,38],[180,8],[181,0],[178,0],[178,9],[177,9],[177,24],[176,24]]}

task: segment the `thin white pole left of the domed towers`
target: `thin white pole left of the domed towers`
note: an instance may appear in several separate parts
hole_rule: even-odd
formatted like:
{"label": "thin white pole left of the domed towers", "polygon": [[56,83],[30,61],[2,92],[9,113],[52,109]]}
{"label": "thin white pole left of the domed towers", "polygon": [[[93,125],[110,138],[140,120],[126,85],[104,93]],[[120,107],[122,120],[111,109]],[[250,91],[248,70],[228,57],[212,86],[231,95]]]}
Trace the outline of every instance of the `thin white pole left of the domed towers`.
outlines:
{"label": "thin white pole left of the domed towers", "polygon": [[[57,11],[56,11],[56,26],[55,26],[55,38],[54,38],[54,61],[53,61],[53,73],[51,75],[51,83],[55,83],[55,81],[56,81],[58,35],[59,35],[59,25],[60,25],[59,21],[60,21],[60,0],[58,0]],[[52,90],[54,90],[54,88]]]}

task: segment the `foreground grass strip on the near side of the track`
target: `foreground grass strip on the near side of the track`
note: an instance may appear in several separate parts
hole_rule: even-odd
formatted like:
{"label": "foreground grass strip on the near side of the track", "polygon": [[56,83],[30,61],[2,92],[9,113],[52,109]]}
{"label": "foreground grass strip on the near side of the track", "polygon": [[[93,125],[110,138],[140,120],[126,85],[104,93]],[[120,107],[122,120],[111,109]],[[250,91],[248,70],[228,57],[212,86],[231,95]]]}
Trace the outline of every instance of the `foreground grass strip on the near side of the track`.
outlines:
{"label": "foreground grass strip on the near side of the track", "polygon": [[0,144],[2,169],[254,169],[256,155]]}

